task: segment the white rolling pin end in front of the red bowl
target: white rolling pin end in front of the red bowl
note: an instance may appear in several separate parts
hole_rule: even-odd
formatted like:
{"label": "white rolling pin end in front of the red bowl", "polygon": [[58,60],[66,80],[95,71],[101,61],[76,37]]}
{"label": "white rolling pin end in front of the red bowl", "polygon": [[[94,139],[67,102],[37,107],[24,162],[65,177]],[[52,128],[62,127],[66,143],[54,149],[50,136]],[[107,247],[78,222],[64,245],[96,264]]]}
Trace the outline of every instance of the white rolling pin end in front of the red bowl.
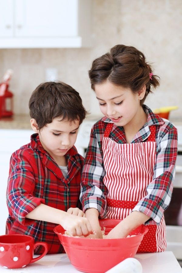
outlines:
{"label": "white rolling pin end in front of the red bowl", "polygon": [[135,258],[127,258],[105,273],[142,273],[142,265]]}

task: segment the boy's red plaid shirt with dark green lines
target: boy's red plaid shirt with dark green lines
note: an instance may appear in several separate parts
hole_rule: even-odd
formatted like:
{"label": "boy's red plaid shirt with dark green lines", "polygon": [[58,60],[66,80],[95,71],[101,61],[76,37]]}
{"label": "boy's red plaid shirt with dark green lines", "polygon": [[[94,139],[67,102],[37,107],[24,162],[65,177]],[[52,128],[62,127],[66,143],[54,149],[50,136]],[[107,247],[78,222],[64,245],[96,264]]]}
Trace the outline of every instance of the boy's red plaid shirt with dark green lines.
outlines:
{"label": "boy's red plaid shirt with dark green lines", "polygon": [[[83,157],[72,147],[66,154],[68,176],[64,178],[57,163],[50,157],[39,140],[38,134],[31,142],[12,154],[7,187],[9,217],[6,234],[26,234],[35,241],[46,241],[48,253],[64,252],[53,228],[57,224],[35,221],[25,216],[43,203],[63,211],[81,207],[79,201]],[[43,252],[43,247],[35,250]]]}

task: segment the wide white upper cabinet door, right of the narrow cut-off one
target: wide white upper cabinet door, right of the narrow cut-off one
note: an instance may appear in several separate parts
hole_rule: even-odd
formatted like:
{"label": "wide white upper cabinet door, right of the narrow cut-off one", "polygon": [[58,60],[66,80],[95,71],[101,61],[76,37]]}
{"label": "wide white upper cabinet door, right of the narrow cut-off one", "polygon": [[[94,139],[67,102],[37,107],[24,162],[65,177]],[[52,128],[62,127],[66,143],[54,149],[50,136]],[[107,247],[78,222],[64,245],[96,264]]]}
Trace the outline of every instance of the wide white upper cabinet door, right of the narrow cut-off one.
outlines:
{"label": "wide white upper cabinet door, right of the narrow cut-off one", "polygon": [[15,0],[15,36],[76,36],[77,17],[78,0]]}

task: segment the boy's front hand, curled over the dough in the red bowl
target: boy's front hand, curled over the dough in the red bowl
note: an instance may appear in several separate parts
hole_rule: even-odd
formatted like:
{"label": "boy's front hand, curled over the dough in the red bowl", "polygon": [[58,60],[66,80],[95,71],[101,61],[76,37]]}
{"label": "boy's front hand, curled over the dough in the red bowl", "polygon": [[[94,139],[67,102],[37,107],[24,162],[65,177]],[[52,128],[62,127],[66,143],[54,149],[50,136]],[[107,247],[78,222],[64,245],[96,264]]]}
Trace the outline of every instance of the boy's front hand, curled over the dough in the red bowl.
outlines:
{"label": "boy's front hand, curled over the dough in the red bowl", "polygon": [[60,224],[66,231],[69,231],[71,236],[88,236],[92,233],[91,224],[86,217],[80,217],[66,212],[64,217],[60,218]]}

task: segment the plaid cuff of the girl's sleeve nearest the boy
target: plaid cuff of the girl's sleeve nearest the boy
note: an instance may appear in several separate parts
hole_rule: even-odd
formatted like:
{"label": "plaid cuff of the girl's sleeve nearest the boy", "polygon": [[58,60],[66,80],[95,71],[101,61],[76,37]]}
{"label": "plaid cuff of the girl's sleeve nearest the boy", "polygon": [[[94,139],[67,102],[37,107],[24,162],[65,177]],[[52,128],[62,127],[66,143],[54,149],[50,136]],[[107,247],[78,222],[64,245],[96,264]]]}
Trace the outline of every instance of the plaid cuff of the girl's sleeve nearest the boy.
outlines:
{"label": "plaid cuff of the girl's sleeve nearest the boy", "polygon": [[106,218],[106,200],[100,200],[100,197],[90,196],[82,200],[83,212],[89,208],[96,208],[99,211],[99,217],[101,219]]}

